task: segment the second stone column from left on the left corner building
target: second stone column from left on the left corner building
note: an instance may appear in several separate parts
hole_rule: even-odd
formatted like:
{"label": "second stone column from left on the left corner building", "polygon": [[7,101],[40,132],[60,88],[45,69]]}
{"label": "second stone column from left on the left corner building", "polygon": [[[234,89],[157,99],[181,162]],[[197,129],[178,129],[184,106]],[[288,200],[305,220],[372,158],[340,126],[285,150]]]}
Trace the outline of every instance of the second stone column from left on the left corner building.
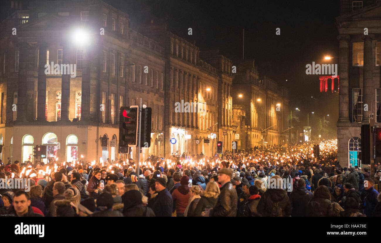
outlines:
{"label": "second stone column from left on the left corner building", "polygon": [[48,43],[38,43],[37,121],[46,121],[46,48]]}

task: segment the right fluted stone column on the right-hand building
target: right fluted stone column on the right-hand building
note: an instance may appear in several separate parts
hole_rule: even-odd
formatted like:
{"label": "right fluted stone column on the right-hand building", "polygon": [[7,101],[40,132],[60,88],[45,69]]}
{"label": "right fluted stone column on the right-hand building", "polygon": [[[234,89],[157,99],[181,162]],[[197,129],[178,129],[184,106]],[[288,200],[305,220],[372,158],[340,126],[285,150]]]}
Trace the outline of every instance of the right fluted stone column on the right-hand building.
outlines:
{"label": "right fluted stone column on the right-hand building", "polygon": [[364,72],[363,72],[363,96],[364,103],[368,104],[368,110],[364,111],[364,116],[362,121],[364,123],[369,123],[370,115],[373,112],[372,106],[372,80],[373,80],[373,60],[372,60],[372,39],[374,35],[364,35],[362,39],[364,40]]}

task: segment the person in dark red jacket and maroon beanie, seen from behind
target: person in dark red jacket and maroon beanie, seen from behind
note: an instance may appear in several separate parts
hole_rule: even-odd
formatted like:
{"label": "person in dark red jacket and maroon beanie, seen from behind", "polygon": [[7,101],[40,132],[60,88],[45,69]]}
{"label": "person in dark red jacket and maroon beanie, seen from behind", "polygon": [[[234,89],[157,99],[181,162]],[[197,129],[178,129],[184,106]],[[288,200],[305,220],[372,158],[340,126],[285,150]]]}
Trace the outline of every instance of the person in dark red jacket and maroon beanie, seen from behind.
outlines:
{"label": "person in dark red jacket and maroon beanie, seen from behind", "polygon": [[189,177],[182,176],[180,186],[172,192],[173,205],[176,207],[176,216],[184,216],[185,209],[189,203]]}

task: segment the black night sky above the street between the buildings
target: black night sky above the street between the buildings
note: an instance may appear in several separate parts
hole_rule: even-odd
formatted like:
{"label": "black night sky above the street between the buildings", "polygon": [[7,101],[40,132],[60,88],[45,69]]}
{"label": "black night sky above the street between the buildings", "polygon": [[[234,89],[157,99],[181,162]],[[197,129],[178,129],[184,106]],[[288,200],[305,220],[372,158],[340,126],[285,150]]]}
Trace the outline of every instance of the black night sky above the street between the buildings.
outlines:
{"label": "black night sky above the street between the buildings", "polygon": [[[2,19],[10,1],[2,1]],[[291,108],[306,112],[319,107],[319,75],[306,75],[306,64],[327,63],[324,55],[338,56],[335,18],[339,0],[104,0],[129,14],[131,27],[166,22],[168,30],[200,47],[219,49],[229,59],[255,59],[260,77],[266,75],[289,89]],[[5,5],[5,6],[4,6]],[[192,27],[193,35],[187,35]],[[280,28],[280,35],[275,29]],[[337,58],[331,63],[337,63]],[[234,65],[234,62],[233,62]],[[285,80],[288,80],[287,82]],[[312,104],[312,105],[311,105]],[[327,107],[337,113],[338,107]],[[302,117],[306,117],[306,114]],[[302,118],[301,117],[301,118]],[[333,117],[332,117],[333,118]],[[332,122],[336,123],[336,122]]]}

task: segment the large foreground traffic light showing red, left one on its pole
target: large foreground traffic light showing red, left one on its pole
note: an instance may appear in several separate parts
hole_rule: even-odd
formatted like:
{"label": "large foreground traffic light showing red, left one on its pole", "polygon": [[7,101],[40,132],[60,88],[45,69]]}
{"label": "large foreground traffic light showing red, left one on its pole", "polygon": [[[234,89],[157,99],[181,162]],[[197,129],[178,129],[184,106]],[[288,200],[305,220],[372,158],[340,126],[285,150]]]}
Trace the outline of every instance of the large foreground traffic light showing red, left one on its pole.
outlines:
{"label": "large foreground traffic light showing red, left one on its pole", "polygon": [[119,146],[136,147],[138,144],[139,106],[120,107]]}

